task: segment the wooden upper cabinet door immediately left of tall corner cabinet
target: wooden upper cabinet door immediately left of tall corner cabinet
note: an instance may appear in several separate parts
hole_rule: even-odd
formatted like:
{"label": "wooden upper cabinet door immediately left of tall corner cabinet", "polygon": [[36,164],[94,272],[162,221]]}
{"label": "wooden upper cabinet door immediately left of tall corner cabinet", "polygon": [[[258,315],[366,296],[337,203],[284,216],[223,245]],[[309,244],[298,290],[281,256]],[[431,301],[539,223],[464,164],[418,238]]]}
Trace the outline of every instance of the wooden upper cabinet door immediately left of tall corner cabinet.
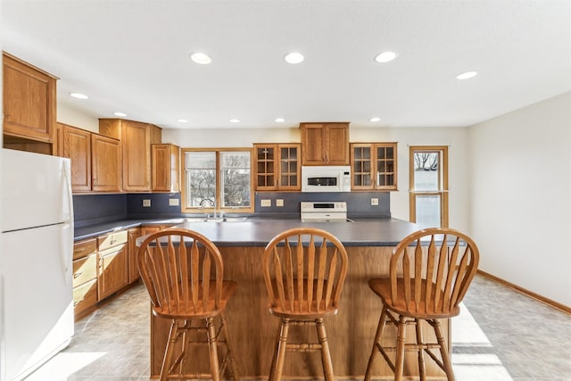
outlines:
{"label": "wooden upper cabinet door immediately left of tall corner cabinet", "polygon": [[95,192],[120,192],[120,141],[91,134],[92,189]]}

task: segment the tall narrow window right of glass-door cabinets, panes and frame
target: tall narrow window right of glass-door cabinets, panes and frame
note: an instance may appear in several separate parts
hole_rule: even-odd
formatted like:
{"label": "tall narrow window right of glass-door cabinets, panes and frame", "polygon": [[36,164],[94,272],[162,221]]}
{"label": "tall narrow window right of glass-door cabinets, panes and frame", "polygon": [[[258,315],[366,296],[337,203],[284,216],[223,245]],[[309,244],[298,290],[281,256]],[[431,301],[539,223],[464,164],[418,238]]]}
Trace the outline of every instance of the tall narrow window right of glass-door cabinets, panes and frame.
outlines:
{"label": "tall narrow window right of glass-door cabinets, panes and frame", "polygon": [[410,146],[410,222],[448,227],[447,146]]}

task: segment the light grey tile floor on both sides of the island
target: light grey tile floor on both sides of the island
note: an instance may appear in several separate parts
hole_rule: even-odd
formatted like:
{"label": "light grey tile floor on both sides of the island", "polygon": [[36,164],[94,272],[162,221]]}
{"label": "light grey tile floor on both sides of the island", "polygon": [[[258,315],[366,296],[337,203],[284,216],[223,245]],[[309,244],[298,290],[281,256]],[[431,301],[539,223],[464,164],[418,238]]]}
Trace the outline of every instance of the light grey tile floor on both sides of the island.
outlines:
{"label": "light grey tile floor on both sides of the island", "polygon": [[[26,381],[147,381],[148,312],[144,286],[131,288],[80,320],[70,346]],[[571,381],[570,315],[476,276],[452,321],[457,381]]]}

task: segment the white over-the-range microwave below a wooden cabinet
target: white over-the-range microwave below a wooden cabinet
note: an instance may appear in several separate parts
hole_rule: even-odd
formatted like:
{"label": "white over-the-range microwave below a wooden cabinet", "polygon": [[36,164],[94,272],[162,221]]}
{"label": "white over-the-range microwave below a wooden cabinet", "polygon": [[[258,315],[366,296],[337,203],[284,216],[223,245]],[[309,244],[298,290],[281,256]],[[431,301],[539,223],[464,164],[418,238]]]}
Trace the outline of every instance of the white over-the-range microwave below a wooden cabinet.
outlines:
{"label": "white over-the-range microwave below a wooden cabinet", "polygon": [[302,192],[351,192],[351,167],[302,166]]}

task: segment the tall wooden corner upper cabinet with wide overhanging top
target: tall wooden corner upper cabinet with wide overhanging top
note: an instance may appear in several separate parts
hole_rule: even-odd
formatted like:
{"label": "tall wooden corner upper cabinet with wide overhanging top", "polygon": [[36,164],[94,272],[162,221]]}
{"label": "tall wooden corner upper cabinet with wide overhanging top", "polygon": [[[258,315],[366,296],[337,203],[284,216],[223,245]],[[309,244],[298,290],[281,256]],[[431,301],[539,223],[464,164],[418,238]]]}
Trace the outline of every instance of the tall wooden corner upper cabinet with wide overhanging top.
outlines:
{"label": "tall wooden corner upper cabinet with wide overhanging top", "polygon": [[100,119],[99,133],[121,141],[123,190],[151,192],[151,145],[161,143],[161,128],[133,120]]}

